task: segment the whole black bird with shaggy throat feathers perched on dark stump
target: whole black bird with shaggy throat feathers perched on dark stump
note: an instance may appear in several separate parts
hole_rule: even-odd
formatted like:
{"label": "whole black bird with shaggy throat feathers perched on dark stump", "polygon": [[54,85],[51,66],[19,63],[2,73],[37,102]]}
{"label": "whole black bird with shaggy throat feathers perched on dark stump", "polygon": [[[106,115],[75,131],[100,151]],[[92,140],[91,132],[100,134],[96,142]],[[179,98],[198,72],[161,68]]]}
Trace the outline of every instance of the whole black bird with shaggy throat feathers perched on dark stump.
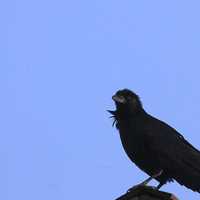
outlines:
{"label": "whole black bird with shaggy throat feathers perched on dark stump", "polygon": [[112,97],[116,110],[109,111],[119,130],[128,157],[159,185],[176,180],[200,192],[200,151],[174,128],[149,115],[134,92],[123,89]]}

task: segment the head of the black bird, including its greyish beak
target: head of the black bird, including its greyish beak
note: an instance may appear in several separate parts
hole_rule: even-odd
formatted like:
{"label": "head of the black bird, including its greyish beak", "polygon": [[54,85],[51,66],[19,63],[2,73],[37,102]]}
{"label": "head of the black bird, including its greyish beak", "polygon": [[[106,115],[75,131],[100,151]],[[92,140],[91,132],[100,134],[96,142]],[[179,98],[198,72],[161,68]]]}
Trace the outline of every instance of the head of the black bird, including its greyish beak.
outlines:
{"label": "head of the black bird, including its greyish beak", "polygon": [[112,99],[115,102],[116,111],[120,114],[135,115],[143,110],[139,96],[131,90],[119,90],[112,96]]}

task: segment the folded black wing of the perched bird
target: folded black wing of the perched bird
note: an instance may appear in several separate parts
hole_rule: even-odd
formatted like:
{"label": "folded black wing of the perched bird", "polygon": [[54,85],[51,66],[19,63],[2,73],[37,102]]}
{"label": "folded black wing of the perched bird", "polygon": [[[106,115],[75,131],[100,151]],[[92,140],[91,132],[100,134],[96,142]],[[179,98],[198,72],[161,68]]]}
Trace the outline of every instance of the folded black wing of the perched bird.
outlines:
{"label": "folded black wing of the perched bird", "polygon": [[200,152],[166,123],[150,121],[145,140],[155,160],[178,183],[200,192]]}

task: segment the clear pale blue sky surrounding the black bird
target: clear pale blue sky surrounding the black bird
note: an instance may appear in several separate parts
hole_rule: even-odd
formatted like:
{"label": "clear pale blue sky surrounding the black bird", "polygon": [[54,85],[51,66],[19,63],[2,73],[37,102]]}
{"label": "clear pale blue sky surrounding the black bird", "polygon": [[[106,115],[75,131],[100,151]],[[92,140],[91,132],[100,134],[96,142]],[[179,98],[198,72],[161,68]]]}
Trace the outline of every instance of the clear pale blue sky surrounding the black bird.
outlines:
{"label": "clear pale blue sky surrounding the black bird", "polygon": [[[2,1],[0,199],[111,200],[145,179],[106,113],[120,88],[200,148],[199,8]],[[199,199],[176,183],[163,190]]]}

